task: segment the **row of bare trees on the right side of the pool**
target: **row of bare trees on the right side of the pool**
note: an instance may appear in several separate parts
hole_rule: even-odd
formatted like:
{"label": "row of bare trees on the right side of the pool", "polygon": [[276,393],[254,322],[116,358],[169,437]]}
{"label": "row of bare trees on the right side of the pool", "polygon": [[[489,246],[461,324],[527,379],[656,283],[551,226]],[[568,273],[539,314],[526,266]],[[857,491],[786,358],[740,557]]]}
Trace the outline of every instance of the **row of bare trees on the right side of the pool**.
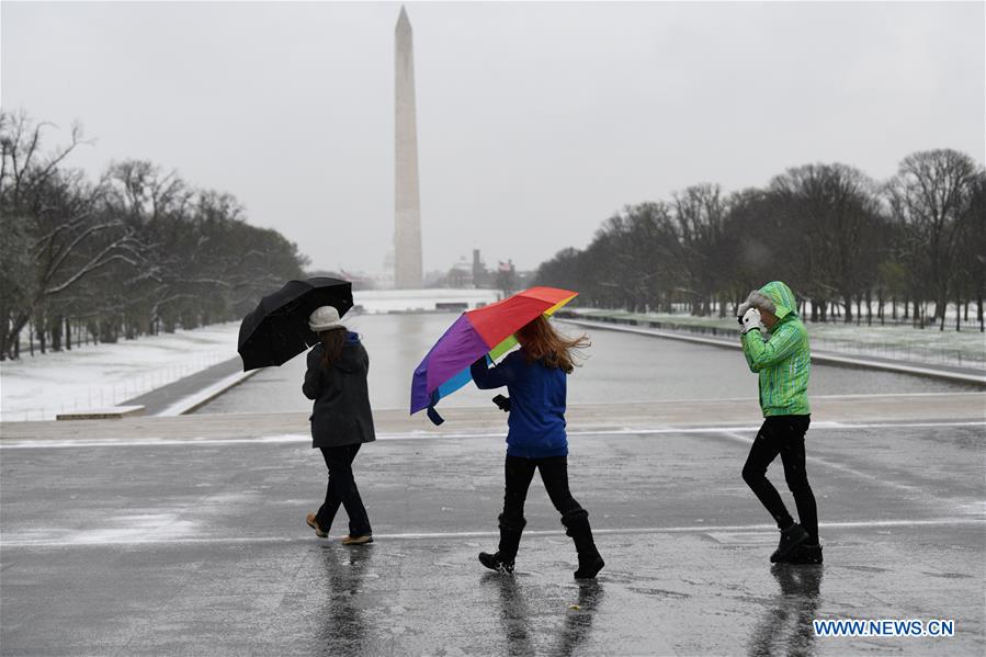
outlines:
{"label": "row of bare trees on the right side of the pool", "polygon": [[972,303],[983,330],[986,172],[941,149],[907,156],[884,182],[836,163],[732,194],[700,184],[625,207],[588,247],[537,271],[541,284],[578,290],[597,307],[719,316],[774,279],[816,321],[860,321],[865,310],[868,322],[943,329],[953,304],[959,329]]}

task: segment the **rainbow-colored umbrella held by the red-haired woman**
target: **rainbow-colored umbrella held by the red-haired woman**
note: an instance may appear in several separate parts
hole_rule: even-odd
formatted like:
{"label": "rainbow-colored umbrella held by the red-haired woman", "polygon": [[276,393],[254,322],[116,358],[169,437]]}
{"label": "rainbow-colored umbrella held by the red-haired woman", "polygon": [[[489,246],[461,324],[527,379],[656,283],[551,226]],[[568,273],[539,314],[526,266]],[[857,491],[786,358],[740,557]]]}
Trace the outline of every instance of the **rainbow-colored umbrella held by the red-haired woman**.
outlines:
{"label": "rainbow-colored umbrella held by the red-haired woman", "polygon": [[539,315],[551,316],[578,296],[557,287],[532,287],[495,304],[466,310],[439,338],[411,378],[411,415],[422,408],[435,424],[442,418],[434,410],[469,381],[469,365],[481,355],[496,360],[517,344],[513,333]]}

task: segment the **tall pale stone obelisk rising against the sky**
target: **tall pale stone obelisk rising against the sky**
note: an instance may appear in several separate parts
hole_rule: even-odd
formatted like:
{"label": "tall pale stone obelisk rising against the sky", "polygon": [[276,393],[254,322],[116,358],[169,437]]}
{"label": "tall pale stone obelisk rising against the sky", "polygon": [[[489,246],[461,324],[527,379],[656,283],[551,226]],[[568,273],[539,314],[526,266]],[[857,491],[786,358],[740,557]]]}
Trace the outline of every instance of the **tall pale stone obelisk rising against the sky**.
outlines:
{"label": "tall pale stone obelisk rising against the sky", "polygon": [[421,203],[418,195],[418,124],[415,112],[415,50],[404,7],[395,30],[394,286],[421,287]]}

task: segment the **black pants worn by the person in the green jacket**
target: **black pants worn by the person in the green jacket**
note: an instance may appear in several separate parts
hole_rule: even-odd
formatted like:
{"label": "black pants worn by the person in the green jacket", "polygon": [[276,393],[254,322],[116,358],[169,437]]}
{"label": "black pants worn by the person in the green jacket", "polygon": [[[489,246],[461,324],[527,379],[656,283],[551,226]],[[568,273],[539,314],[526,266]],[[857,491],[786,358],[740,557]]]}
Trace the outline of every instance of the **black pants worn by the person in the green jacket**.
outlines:
{"label": "black pants worn by the person in the green jacket", "polygon": [[784,464],[784,479],[794,495],[801,524],[808,532],[808,543],[818,542],[818,510],[815,494],[808,485],[805,469],[805,433],[811,424],[811,416],[774,416],[767,418],[743,466],[743,479],[753,490],[760,502],[773,516],[780,529],[794,523],[778,489],[767,479],[767,466],[781,455]]}

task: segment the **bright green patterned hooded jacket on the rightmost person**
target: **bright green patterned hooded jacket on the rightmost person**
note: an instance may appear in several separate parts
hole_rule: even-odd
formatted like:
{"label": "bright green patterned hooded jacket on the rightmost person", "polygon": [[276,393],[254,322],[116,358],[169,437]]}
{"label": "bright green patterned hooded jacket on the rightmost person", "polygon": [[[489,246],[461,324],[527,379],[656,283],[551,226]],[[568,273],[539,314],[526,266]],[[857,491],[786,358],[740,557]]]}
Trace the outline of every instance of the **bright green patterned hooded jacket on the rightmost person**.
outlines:
{"label": "bright green patterned hooded jacket on the rightmost person", "polygon": [[808,331],[797,317],[794,293],[780,281],[771,281],[760,288],[760,293],[777,306],[778,322],[767,338],[759,330],[752,330],[741,340],[750,371],[760,375],[763,417],[809,415],[812,352],[808,350]]}

